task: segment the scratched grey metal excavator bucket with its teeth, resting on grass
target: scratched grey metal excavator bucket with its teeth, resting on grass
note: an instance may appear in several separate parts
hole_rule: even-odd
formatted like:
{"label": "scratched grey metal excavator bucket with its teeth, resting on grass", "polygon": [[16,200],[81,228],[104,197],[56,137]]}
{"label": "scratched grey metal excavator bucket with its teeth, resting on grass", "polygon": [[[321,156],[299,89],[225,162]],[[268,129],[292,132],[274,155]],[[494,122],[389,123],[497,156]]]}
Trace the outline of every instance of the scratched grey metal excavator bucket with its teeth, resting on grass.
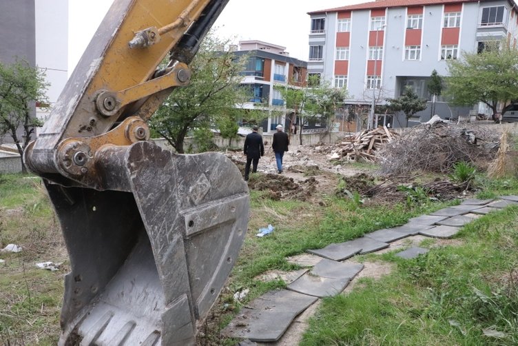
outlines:
{"label": "scratched grey metal excavator bucket with its teeth, resting on grass", "polygon": [[105,157],[116,190],[47,183],[72,267],[60,345],[194,344],[245,238],[247,185],[222,154]]}

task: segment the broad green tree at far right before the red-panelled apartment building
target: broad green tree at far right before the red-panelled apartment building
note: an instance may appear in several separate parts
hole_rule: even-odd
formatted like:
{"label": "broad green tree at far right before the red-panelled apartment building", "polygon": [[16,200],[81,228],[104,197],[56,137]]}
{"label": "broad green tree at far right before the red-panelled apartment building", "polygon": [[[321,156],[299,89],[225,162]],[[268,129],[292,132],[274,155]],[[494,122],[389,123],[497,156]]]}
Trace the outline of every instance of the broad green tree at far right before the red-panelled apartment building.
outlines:
{"label": "broad green tree at far right before the red-panelled apartment building", "polygon": [[505,106],[518,99],[518,50],[506,43],[495,42],[479,53],[448,60],[448,72],[446,94],[455,105],[482,102],[494,115],[499,102]]}

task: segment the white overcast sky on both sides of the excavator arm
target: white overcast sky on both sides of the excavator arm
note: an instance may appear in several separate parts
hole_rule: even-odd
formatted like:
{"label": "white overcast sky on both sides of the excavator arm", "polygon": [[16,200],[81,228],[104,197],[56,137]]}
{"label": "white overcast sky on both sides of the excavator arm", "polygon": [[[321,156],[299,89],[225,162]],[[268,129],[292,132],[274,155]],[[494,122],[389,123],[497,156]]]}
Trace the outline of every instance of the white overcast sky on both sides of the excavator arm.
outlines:
{"label": "white overcast sky on both sides of the excavator arm", "polygon": [[[236,41],[256,39],[282,45],[287,48],[291,57],[307,61],[310,29],[307,12],[368,1],[230,0],[214,24],[214,28],[222,39],[236,39]],[[69,0],[69,75],[112,2],[112,0]]]}

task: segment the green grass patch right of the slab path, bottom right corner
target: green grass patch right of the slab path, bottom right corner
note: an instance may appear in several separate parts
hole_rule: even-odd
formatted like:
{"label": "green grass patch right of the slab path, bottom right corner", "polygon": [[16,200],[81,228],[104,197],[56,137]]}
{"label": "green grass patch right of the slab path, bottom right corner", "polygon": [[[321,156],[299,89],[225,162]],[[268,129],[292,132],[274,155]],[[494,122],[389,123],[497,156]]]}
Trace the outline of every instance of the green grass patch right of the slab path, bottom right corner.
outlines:
{"label": "green grass patch right of the slab path, bottom right corner", "polygon": [[302,345],[517,345],[518,208],[464,227],[463,245],[402,260],[324,300]]}

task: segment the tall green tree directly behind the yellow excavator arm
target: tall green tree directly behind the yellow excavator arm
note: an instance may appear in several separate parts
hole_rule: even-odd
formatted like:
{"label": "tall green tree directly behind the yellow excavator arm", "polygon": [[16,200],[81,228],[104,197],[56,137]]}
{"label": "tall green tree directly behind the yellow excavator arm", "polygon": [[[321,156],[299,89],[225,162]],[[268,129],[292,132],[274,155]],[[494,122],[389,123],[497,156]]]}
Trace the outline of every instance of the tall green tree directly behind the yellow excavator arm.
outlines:
{"label": "tall green tree directly behind the yellow excavator arm", "polygon": [[191,83],[176,88],[149,122],[180,154],[185,152],[184,140],[190,130],[213,127],[227,110],[245,101],[245,90],[239,88],[244,59],[236,60],[225,48],[227,43],[213,34],[203,39],[189,65]]}

